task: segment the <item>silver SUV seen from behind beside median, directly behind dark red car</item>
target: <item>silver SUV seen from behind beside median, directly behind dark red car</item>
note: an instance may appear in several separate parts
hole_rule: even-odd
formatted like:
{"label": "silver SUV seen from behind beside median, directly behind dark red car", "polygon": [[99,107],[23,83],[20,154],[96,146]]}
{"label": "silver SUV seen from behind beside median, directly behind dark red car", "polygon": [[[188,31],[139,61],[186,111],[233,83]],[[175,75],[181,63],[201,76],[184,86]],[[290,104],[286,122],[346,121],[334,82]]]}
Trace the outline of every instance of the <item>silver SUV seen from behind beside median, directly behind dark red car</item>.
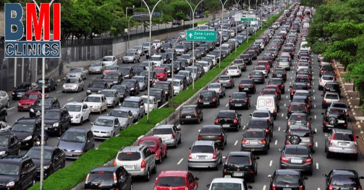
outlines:
{"label": "silver SUV seen from behind beside median, directly behind dark red car", "polygon": [[155,152],[146,146],[131,146],[120,150],[113,165],[121,165],[132,176],[142,176],[146,181],[150,179],[150,173],[157,173]]}

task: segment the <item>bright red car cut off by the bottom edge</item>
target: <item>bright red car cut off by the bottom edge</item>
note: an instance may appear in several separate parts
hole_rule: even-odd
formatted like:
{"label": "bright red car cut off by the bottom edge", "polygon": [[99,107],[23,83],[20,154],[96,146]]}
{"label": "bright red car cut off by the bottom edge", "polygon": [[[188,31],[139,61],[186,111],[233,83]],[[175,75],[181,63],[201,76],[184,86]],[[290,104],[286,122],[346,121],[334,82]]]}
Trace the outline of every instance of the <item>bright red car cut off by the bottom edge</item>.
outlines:
{"label": "bright red car cut off by the bottom edge", "polygon": [[194,190],[197,180],[189,171],[163,171],[155,180],[154,190]]}

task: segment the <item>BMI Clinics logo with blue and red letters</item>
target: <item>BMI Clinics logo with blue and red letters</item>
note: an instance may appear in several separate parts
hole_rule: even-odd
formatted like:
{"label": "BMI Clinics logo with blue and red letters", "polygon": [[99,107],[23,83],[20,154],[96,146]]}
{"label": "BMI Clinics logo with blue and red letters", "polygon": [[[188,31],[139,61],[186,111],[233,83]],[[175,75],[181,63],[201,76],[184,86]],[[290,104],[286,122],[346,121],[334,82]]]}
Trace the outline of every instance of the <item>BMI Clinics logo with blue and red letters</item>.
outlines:
{"label": "BMI Clinics logo with blue and red letters", "polygon": [[[53,1],[52,1],[53,2]],[[26,26],[23,25],[23,7],[18,3],[5,4],[5,57],[59,58],[60,4],[53,6],[53,35],[50,34],[50,7],[52,3],[26,4]],[[37,13],[37,9],[39,14]],[[24,28],[26,36],[24,38]],[[43,32],[43,36],[42,36]]]}

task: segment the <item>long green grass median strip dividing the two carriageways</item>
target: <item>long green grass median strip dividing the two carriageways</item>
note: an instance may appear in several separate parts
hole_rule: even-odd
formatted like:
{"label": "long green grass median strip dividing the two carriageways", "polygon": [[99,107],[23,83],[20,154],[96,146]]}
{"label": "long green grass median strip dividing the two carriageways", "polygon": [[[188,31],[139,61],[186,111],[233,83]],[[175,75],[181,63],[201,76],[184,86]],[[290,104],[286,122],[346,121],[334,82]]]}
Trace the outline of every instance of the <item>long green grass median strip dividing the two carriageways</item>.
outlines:
{"label": "long green grass median strip dividing the two carriageways", "polygon": [[[280,13],[281,14],[281,13]],[[280,15],[279,14],[279,15]],[[182,104],[191,98],[199,89],[206,86],[215,76],[221,73],[234,59],[236,59],[242,52],[244,52],[254,40],[260,36],[276,19],[278,15],[272,16],[267,22],[264,23],[263,30],[258,30],[256,34],[249,37],[248,43],[245,42],[237,47],[236,54],[233,52],[221,61],[220,68],[215,66],[203,77],[195,81],[195,89],[190,86],[188,89],[182,91],[174,97],[175,104]],[[171,101],[169,102],[171,103]],[[144,116],[138,122],[129,128],[120,132],[120,136],[113,137],[105,140],[98,146],[97,150],[90,150],[84,155],[80,156],[75,162],[68,167],[58,170],[44,181],[44,189],[71,189],[78,183],[85,180],[87,174],[91,169],[103,165],[114,159],[117,152],[122,147],[130,146],[134,143],[137,137],[145,135],[150,131],[155,124],[160,123],[167,118],[175,109],[161,108],[150,112],[150,121],[147,123],[147,117]],[[39,189],[39,183],[29,188],[31,190]]]}

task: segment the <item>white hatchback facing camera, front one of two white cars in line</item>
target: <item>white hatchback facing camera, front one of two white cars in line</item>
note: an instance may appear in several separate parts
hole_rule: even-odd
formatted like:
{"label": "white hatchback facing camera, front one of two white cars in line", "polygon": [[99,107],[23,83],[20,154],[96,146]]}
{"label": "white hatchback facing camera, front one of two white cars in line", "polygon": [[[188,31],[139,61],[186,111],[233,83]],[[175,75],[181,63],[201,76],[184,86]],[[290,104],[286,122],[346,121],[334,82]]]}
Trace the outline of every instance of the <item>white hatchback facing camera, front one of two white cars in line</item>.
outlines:
{"label": "white hatchback facing camera, front one of two white cars in line", "polygon": [[71,102],[67,103],[64,108],[70,114],[72,124],[82,125],[85,121],[90,121],[91,109],[87,104],[83,102]]}

